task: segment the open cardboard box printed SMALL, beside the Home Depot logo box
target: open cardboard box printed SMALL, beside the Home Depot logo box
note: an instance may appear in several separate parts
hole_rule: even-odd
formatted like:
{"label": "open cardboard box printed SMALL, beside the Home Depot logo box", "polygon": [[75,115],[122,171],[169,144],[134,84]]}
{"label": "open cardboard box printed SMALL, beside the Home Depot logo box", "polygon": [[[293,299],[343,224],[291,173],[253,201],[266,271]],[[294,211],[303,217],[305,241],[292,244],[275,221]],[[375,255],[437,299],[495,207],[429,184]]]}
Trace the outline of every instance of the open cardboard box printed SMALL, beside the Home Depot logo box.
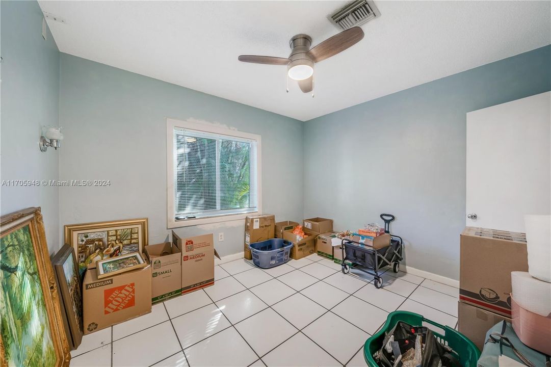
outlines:
{"label": "open cardboard box printed SMALL, beside the Home Depot logo box", "polygon": [[182,293],[182,252],[171,242],[144,247],[151,264],[151,301],[157,303]]}

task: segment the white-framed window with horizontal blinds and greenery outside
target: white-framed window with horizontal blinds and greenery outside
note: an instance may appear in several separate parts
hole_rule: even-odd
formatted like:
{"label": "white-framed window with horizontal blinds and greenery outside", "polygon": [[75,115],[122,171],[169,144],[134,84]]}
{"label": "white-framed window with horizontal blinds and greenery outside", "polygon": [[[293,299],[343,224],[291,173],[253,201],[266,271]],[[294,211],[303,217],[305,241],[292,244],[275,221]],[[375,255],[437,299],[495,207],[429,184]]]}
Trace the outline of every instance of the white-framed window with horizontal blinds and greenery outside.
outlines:
{"label": "white-framed window with horizontal blinds and greenery outside", "polygon": [[260,212],[260,136],[167,119],[168,226]]}

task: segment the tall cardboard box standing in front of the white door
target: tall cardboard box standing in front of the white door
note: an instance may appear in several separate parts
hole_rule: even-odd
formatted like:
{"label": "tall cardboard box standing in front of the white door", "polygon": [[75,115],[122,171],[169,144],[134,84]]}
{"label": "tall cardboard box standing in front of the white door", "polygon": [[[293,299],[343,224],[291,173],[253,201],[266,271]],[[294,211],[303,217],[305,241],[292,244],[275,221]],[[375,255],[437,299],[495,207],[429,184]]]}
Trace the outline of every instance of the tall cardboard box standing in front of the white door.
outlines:
{"label": "tall cardboard box standing in front of the white door", "polygon": [[523,233],[467,227],[461,234],[460,300],[511,317],[511,272],[528,271]]}

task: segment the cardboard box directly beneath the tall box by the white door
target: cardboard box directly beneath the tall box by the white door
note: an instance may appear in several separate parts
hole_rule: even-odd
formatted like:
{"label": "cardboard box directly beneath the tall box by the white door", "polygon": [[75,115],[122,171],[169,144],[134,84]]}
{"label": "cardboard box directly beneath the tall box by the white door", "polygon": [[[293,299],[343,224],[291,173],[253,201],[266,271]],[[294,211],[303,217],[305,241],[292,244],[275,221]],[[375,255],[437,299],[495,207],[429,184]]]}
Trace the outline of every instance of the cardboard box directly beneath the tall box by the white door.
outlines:
{"label": "cardboard box directly beneath the tall box by the white door", "polygon": [[466,303],[459,301],[458,305],[458,326],[457,330],[482,350],[484,347],[484,341],[486,339],[486,333],[496,323],[503,320],[511,322],[511,319],[507,317],[494,314],[493,312],[480,309]]}

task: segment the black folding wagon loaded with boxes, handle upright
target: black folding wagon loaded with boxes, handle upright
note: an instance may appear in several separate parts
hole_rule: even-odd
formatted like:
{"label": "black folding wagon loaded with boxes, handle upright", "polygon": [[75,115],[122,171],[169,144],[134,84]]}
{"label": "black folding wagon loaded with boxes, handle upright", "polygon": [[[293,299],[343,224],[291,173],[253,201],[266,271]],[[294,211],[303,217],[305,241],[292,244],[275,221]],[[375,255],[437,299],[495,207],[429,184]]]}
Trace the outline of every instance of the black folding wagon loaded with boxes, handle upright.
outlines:
{"label": "black folding wagon loaded with boxes, handle upright", "polygon": [[[392,214],[381,214],[385,228],[370,223],[357,233],[341,233],[342,272],[347,274],[350,268],[355,268],[372,275],[376,288],[382,287],[379,269],[392,266],[397,273],[399,262],[402,261],[402,238],[390,234],[390,223],[395,220]],[[370,269],[372,271],[370,271]]]}

